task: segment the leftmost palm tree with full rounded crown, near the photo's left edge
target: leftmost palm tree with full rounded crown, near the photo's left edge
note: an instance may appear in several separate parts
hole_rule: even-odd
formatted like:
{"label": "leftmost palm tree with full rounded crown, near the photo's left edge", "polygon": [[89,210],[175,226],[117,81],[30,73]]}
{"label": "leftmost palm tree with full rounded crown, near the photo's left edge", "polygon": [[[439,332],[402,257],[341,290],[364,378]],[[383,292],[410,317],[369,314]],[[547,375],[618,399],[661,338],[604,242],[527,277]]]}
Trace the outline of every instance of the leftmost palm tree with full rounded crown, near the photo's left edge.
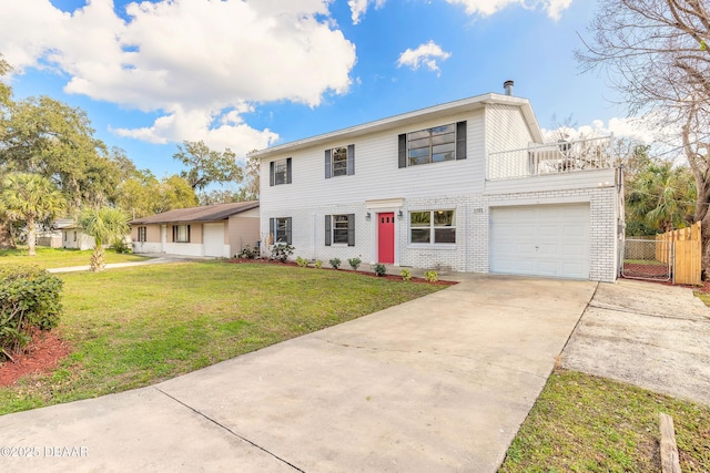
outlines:
{"label": "leftmost palm tree with full rounded crown, near the photo's left edge", "polygon": [[29,256],[36,254],[37,223],[54,219],[65,205],[59,189],[39,174],[10,174],[2,182],[0,210],[9,220],[27,225]]}

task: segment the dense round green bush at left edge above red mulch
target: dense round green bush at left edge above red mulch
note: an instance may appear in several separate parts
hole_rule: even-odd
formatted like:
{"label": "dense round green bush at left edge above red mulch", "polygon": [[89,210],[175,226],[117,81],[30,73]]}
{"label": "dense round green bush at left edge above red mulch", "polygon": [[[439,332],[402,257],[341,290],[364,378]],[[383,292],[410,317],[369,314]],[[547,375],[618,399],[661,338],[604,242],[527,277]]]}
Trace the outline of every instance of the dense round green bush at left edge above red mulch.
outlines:
{"label": "dense round green bush at left edge above red mulch", "polygon": [[19,354],[32,332],[57,327],[62,284],[37,266],[0,266],[0,358]]}

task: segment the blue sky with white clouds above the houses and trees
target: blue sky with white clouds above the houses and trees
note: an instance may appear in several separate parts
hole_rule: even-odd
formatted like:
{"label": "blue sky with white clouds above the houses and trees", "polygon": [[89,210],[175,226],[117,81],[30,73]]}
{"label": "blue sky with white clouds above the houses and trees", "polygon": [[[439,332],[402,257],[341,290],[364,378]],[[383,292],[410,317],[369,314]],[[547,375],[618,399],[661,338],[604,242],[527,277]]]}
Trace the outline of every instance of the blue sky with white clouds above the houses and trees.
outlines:
{"label": "blue sky with white clouds above the houses and trees", "polygon": [[[540,126],[626,126],[574,50],[589,0],[22,0],[0,53],[17,99],[87,111],[97,136],[159,177],[203,140],[254,148],[487,92],[530,100]],[[555,121],[557,119],[557,122]],[[618,130],[615,130],[618,128]]]}

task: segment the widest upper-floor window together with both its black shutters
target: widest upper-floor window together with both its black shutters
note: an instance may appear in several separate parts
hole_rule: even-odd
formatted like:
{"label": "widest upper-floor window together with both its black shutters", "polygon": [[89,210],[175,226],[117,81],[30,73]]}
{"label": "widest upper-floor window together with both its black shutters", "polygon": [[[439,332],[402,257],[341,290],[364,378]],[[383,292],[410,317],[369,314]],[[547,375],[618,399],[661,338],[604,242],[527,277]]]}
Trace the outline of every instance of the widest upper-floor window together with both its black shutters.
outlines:
{"label": "widest upper-floor window together with both its black shutters", "polygon": [[466,158],[466,122],[399,135],[399,167]]}

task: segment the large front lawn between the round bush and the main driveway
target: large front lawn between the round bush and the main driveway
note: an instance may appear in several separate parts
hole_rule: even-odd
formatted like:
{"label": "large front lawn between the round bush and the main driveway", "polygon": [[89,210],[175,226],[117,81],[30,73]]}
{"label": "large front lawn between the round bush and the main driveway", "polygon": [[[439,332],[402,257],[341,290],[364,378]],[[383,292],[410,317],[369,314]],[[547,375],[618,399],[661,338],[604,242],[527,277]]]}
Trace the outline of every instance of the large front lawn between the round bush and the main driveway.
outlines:
{"label": "large front lawn between the round bush and the main driveway", "polygon": [[148,385],[442,289],[221,261],[61,278],[58,330],[73,352],[50,374],[0,388],[0,414]]}

